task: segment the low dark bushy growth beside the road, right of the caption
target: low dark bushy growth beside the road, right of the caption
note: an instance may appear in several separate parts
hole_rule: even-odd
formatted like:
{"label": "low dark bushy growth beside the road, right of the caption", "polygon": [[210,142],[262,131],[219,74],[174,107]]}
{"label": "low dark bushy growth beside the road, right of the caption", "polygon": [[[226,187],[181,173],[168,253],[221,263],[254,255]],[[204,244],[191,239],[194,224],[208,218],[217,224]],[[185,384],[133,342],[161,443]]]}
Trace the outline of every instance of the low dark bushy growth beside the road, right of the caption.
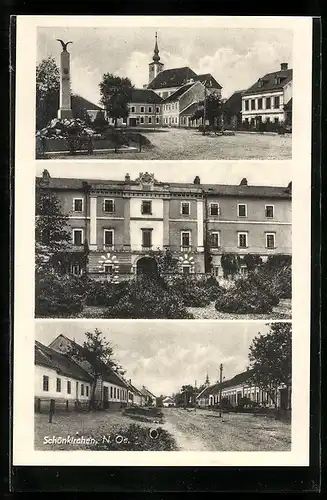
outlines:
{"label": "low dark bushy growth beside the road, right of the caption", "polygon": [[[149,427],[142,427],[139,424],[131,424],[127,429],[120,429],[115,436],[122,436],[124,441],[119,443],[117,439],[103,442],[102,437],[98,438],[98,443],[89,449],[94,451],[175,451],[177,445],[175,439],[169,432],[161,427],[157,427],[157,438],[150,435]],[[110,432],[108,433],[110,435]]]}

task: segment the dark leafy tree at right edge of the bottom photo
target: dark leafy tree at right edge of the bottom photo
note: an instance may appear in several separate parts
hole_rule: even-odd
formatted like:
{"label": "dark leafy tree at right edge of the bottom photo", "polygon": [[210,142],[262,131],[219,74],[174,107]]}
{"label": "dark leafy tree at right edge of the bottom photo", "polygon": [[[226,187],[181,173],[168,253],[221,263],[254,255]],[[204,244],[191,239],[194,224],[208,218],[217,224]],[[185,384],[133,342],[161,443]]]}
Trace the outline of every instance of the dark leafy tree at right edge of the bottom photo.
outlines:
{"label": "dark leafy tree at right edge of the bottom photo", "polygon": [[268,392],[276,405],[277,388],[284,384],[291,407],[292,327],[290,323],[272,323],[269,332],[254,338],[249,352],[252,382]]}

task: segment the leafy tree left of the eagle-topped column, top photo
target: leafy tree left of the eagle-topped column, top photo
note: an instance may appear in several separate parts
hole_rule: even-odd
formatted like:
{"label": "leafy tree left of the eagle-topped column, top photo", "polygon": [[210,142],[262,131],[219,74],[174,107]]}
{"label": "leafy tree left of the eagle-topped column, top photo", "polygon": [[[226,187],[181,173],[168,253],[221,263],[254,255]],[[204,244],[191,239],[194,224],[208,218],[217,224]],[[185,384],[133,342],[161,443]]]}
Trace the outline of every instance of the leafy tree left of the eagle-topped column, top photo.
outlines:
{"label": "leafy tree left of the eagle-topped column, top photo", "polygon": [[36,129],[40,130],[57,116],[60,72],[54,57],[43,59],[36,67]]}

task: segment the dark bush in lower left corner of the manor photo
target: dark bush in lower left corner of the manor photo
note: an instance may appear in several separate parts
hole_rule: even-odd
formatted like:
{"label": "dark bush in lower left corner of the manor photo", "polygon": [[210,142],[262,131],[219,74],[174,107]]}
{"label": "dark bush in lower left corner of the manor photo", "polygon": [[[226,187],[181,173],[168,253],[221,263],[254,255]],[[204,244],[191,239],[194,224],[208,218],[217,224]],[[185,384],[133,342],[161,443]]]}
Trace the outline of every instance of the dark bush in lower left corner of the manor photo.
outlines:
{"label": "dark bush in lower left corner of the manor photo", "polygon": [[69,317],[83,310],[83,283],[74,276],[36,273],[35,294],[38,317]]}

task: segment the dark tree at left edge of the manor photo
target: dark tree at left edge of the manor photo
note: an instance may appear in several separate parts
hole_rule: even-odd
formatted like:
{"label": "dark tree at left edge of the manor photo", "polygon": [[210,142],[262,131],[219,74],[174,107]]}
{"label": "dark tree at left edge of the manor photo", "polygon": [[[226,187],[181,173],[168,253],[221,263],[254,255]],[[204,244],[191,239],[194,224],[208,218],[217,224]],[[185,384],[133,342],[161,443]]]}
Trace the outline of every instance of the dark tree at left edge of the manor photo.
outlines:
{"label": "dark tree at left edge of the manor photo", "polygon": [[36,189],[35,257],[36,268],[50,265],[63,256],[71,240],[67,229],[68,216],[62,212],[60,202],[50,189]]}

